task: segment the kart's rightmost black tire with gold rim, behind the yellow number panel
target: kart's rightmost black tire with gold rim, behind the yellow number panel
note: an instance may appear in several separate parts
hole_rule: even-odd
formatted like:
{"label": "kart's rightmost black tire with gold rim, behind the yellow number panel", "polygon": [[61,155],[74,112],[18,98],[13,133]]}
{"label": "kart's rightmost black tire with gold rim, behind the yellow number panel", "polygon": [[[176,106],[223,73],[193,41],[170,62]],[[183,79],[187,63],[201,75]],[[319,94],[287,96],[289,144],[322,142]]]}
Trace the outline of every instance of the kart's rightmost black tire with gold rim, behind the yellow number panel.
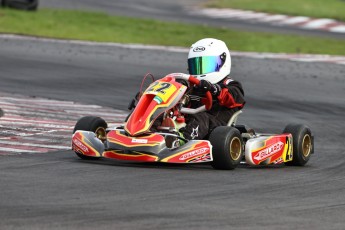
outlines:
{"label": "kart's rightmost black tire with gold rim, behind the yellow number panel", "polygon": [[304,166],[313,150],[313,137],[310,128],[301,124],[289,124],[283,133],[292,135],[292,161],[285,162],[289,166]]}

